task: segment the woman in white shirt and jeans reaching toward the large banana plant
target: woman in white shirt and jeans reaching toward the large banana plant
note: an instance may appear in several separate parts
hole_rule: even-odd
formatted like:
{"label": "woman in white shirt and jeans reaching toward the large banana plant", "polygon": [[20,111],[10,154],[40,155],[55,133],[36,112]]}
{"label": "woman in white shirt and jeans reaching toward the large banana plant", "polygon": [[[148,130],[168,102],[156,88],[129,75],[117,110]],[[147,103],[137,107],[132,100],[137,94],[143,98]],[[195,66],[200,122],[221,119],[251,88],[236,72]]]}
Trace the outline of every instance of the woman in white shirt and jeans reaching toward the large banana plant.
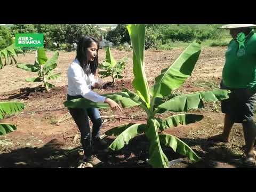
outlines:
{"label": "woman in white shirt and jeans reaching toward the large banana plant", "polygon": [[[108,103],[111,109],[122,111],[119,105],[106,97],[91,91],[91,87],[99,86],[94,75],[98,68],[99,43],[93,37],[82,37],[77,45],[76,58],[68,68],[68,95],[67,100],[86,98],[93,102]],[[105,149],[107,143],[99,138],[102,125],[100,113],[97,108],[69,108],[69,112],[81,132],[81,143],[84,149],[83,161],[97,166],[102,162],[95,155],[95,150]],[[89,118],[92,121],[92,134]]]}

